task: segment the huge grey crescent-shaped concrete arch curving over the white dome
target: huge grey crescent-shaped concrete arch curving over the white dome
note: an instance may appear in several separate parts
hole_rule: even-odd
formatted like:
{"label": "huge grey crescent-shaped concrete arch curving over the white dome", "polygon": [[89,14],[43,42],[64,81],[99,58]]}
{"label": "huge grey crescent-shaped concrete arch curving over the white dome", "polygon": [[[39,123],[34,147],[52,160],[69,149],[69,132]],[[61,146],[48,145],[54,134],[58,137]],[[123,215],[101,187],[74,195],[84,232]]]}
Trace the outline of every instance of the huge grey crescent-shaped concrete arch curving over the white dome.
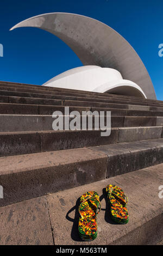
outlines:
{"label": "huge grey crescent-shaped concrete arch curving over the white dome", "polygon": [[118,70],[124,80],[136,83],[148,99],[156,99],[151,78],[134,48],[114,29],[83,15],[48,13],[24,20],[18,27],[36,27],[64,41],[83,65]]}

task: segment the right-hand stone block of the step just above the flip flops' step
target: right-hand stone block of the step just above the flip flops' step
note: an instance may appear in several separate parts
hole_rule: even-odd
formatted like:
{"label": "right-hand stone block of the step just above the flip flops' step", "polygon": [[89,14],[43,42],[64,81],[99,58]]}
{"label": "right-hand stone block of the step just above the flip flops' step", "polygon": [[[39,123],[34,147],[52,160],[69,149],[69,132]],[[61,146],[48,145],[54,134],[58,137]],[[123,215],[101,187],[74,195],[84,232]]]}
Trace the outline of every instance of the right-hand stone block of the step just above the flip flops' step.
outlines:
{"label": "right-hand stone block of the step just above the flip flops' step", "polygon": [[90,147],[108,156],[107,178],[162,163],[163,140],[153,139]]}

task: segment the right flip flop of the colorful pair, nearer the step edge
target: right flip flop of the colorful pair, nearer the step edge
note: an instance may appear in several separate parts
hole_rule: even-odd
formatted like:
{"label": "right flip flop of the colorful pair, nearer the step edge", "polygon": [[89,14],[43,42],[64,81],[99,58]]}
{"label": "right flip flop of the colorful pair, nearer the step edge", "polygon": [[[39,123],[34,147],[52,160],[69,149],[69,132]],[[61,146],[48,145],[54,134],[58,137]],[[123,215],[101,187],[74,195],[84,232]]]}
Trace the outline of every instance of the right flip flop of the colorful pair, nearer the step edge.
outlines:
{"label": "right flip flop of the colorful pair, nearer the step edge", "polygon": [[128,223],[129,216],[126,208],[128,198],[124,194],[123,190],[115,185],[108,185],[106,186],[106,194],[110,202],[110,213],[112,220],[119,224]]}

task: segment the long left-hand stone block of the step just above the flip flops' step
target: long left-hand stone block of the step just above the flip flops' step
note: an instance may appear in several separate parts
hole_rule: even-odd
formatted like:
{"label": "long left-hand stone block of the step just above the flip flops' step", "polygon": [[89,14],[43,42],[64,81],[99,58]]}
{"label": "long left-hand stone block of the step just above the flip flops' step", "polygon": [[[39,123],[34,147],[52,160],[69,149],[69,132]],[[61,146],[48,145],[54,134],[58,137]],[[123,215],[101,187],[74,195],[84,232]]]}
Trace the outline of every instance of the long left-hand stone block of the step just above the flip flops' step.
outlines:
{"label": "long left-hand stone block of the step just above the flip flops' step", "polygon": [[87,148],[0,157],[0,205],[105,179],[106,163],[105,154]]}

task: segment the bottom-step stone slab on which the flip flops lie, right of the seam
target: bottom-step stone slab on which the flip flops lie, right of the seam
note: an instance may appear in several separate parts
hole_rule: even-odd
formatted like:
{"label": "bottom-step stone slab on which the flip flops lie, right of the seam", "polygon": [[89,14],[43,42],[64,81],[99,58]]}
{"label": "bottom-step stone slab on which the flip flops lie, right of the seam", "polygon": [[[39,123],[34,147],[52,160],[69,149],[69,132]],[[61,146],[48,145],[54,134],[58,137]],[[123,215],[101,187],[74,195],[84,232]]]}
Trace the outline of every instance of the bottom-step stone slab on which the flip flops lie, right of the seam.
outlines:
{"label": "bottom-step stone slab on which the flip flops lie, right of the seam", "polygon": [[[152,245],[163,237],[163,199],[158,197],[163,182],[163,164],[116,176],[93,184],[49,194],[49,216],[56,245]],[[108,215],[109,208],[103,198],[108,184],[120,186],[127,194],[129,222],[115,224]],[[92,242],[80,241],[78,236],[77,199],[87,191],[97,191],[102,210],[98,215],[98,236]]]}

